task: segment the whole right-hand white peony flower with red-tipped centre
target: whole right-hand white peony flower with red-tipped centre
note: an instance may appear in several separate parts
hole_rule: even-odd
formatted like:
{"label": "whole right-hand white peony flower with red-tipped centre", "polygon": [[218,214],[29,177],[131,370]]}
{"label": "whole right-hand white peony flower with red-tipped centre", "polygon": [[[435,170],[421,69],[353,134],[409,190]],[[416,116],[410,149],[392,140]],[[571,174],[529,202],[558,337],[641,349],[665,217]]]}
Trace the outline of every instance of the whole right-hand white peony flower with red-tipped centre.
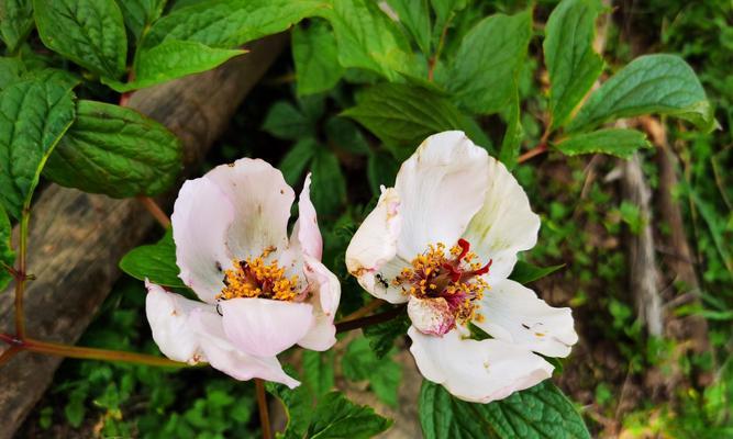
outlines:
{"label": "whole right-hand white peony flower with red-tipped centre", "polygon": [[[382,188],[346,250],[371,295],[407,303],[421,373],[453,395],[488,403],[552,375],[542,356],[578,340],[569,308],[507,279],[536,244],[540,217],[507,168],[462,132],[425,139]],[[492,338],[470,338],[469,324]]]}

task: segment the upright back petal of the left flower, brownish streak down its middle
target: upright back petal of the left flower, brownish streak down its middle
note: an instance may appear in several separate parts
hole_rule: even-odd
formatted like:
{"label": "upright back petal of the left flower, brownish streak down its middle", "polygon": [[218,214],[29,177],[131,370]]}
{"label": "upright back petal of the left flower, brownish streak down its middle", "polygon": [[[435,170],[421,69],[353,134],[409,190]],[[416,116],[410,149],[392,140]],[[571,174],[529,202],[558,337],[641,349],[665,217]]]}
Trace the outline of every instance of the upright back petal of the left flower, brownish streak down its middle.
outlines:
{"label": "upright back petal of the left flower, brownish streak down its middle", "polygon": [[226,244],[238,260],[259,256],[265,248],[285,249],[290,206],[296,195],[282,173],[267,161],[242,158],[209,171],[234,205]]}

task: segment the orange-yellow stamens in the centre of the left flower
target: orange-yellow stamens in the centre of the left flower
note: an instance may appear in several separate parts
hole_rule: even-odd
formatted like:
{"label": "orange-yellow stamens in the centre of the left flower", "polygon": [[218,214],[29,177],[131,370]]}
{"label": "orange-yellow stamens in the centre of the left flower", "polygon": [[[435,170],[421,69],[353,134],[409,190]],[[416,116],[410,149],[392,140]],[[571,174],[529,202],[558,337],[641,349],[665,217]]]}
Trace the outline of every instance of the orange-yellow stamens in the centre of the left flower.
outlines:
{"label": "orange-yellow stamens in the centre of the left flower", "polygon": [[300,295],[298,277],[288,279],[285,268],[277,259],[265,262],[270,251],[257,258],[234,260],[234,268],[224,270],[224,289],[218,300],[236,297],[263,297],[276,301],[292,301]]}

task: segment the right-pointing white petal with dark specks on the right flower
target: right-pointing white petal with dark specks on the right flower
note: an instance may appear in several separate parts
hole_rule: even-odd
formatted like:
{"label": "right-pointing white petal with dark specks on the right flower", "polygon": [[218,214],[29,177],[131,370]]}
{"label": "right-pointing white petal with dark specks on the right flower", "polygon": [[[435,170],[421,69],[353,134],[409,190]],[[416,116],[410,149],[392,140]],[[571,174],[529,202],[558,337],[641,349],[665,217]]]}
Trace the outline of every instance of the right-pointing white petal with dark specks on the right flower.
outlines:
{"label": "right-pointing white petal with dark specks on the right flower", "polygon": [[485,291],[476,323],[495,338],[548,357],[567,357],[578,335],[570,308],[556,308],[519,282],[503,280]]}

